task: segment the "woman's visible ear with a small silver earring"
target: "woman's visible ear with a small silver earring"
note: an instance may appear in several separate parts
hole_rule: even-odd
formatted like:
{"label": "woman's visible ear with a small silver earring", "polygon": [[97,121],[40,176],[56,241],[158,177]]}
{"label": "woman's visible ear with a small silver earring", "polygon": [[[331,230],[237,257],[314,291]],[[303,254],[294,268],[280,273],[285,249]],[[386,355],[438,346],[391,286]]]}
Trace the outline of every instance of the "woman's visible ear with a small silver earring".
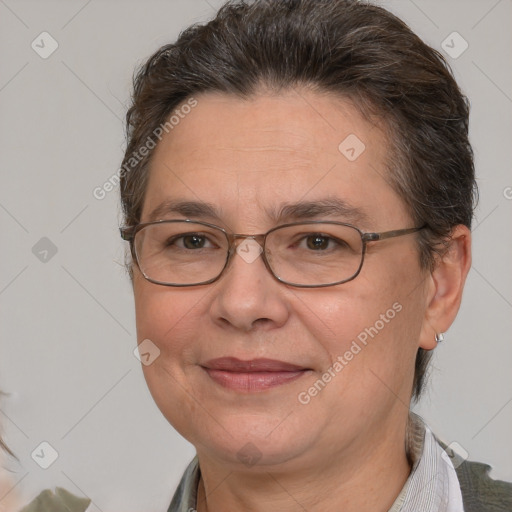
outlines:
{"label": "woman's visible ear with a small silver earring", "polygon": [[437,258],[429,276],[427,304],[419,346],[425,350],[436,347],[435,335],[446,332],[459,311],[462,290],[471,268],[471,231],[456,226],[448,247]]}

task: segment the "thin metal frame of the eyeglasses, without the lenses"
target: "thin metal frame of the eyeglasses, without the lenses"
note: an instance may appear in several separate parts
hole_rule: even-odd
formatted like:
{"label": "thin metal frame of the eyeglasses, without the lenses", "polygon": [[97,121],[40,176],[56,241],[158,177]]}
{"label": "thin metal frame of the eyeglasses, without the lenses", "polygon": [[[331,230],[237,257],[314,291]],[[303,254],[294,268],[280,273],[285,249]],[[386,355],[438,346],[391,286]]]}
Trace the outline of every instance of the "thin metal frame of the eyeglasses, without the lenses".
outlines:
{"label": "thin metal frame of the eyeglasses, without the lenses", "polygon": [[[135,236],[137,235],[137,233],[139,231],[144,229],[146,226],[152,226],[152,225],[164,224],[164,223],[170,224],[170,223],[178,223],[178,222],[179,223],[199,224],[199,225],[206,226],[209,228],[217,229],[218,231],[221,231],[222,233],[224,233],[224,236],[226,237],[226,240],[228,242],[228,251],[226,254],[226,262],[224,263],[222,270],[219,272],[219,274],[216,277],[209,279],[207,281],[201,281],[200,283],[174,284],[174,283],[165,283],[162,281],[157,281],[155,279],[151,279],[144,273],[144,271],[142,270],[142,268],[139,264],[139,259],[137,257],[137,253],[135,250],[135,244],[134,244]],[[346,226],[346,227],[356,230],[359,233],[359,235],[361,236],[362,244],[363,244],[363,248],[362,248],[362,252],[361,252],[361,263],[359,264],[359,267],[353,276],[351,276],[348,279],[343,279],[341,281],[336,281],[334,283],[328,283],[328,284],[297,284],[297,283],[288,282],[288,281],[280,278],[272,270],[272,267],[270,266],[270,264],[267,260],[266,254],[265,254],[265,243],[266,243],[268,235],[270,233],[273,233],[274,231],[277,231],[277,230],[283,229],[283,228],[287,228],[290,226],[315,225],[315,224],[333,224],[333,225],[337,225],[337,226]],[[233,253],[236,252],[237,240],[249,238],[251,240],[256,241],[262,247],[261,257],[263,259],[263,263],[265,264],[265,267],[270,272],[270,274],[280,283],[286,284],[288,286],[293,286],[295,288],[326,288],[328,286],[336,286],[339,284],[347,283],[349,281],[354,280],[359,275],[359,273],[361,272],[361,269],[363,268],[364,257],[366,254],[366,245],[368,242],[380,242],[382,240],[387,240],[389,238],[396,238],[399,236],[409,235],[411,233],[416,233],[418,231],[421,231],[422,229],[424,229],[426,227],[427,227],[427,224],[425,224],[421,227],[415,227],[415,228],[393,229],[391,231],[382,231],[380,233],[368,233],[368,232],[361,231],[356,226],[353,226],[352,224],[347,224],[346,222],[337,222],[337,221],[329,221],[329,220],[327,220],[327,221],[325,221],[325,220],[310,220],[310,221],[290,222],[287,224],[280,224],[279,226],[275,226],[272,229],[268,230],[266,233],[250,235],[250,234],[243,234],[243,233],[229,233],[224,228],[217,226],[216,224],[210,224],[209,222],[197,221],[197,220],[193,220],[193,219],[170,219],[170,220],[164,219],[164,220],[156,220],[156,221],[152,221],[152,222],[143,222],[140,224],[136,224],[135,226],[123,226],[123,227],[119,228],[119,232],[121,233],[121,238],[123,240],[130,242],[130,251],[132,254],[132,258],[137,263],[137,266],[139,267],[139,270],[141,271],[144,278],[151,283],[158,284],[161,286],[172,286],[175,288],[184,288],[184,287],[201,286],[201,285],[214,283],[215,281],[220,279],[220,277],[224,274],[224,271],[228,267],[229,262],[231,261],[231,258],[233,256]]]}

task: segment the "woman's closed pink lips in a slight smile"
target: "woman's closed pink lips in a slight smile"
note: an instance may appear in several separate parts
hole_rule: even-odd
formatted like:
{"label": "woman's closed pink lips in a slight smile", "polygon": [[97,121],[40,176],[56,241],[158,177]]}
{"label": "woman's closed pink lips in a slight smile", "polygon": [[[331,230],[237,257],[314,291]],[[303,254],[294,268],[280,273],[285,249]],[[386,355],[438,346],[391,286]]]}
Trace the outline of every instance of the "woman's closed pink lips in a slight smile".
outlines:
{"label": "woman's closed pink lips in a slight smile", "polygon": [[242,361],[235,357],[212,359],[201,366],[215,383],[246,393],[293,382],[311,371],[311,368],[275,359]]}

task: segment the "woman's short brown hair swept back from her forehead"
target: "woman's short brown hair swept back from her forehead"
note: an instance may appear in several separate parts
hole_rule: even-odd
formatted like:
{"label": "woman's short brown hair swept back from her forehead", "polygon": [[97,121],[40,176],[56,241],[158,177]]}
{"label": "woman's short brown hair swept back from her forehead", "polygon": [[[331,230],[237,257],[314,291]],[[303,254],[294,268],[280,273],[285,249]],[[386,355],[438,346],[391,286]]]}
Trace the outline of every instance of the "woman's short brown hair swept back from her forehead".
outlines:
{"label": "woman's short brown hair swept back from her forehead", "polygon": [[[194,94],[247,98],[297,85],[348,97],[387,128],[389,181],[417,226],[432,269],[454,226],[471,227],[477,189],[469,106],[444,58],[385,9],[356,0],[235,0],[160,48],[134,78],[120,175],[127,225],[140,222],[157,127]],[[135,162],[135,163],[134,163]],[[431,352],[419,349],[413,398]]]}

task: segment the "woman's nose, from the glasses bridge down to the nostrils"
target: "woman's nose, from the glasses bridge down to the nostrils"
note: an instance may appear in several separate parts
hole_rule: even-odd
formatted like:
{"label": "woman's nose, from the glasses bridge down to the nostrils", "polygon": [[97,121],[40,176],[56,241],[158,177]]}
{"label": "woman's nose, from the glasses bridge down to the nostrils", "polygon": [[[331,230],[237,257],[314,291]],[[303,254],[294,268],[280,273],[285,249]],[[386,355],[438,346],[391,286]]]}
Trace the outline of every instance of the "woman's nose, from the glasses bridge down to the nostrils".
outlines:
{"label": "woman's nose, from the glasses bridge down to the nostrils", "polygon": [[228,268],[215,287],[211,315],[215,323],[249,332],[286,323],[289,305],[285,285],[268,271],[261,245],[251,237],[236,243]]}

